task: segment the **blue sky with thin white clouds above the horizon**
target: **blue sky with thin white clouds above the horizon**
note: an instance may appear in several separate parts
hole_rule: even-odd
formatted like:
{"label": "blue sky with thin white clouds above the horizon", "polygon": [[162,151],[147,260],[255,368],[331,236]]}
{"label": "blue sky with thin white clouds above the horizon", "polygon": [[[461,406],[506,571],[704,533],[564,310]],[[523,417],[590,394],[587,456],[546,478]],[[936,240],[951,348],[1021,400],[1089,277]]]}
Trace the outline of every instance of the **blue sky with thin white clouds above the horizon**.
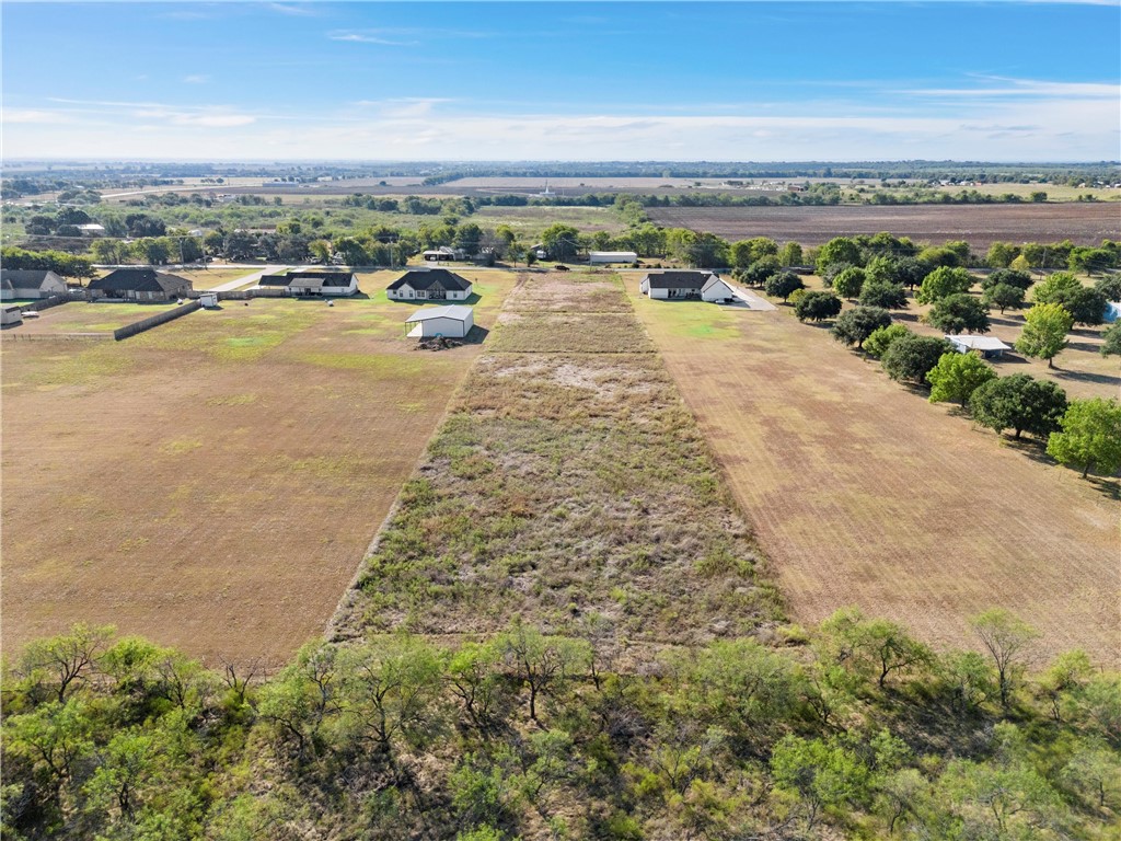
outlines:
{"label": "blue sky with thin white clouds above the horizon", "polygon": [[7,158],[1121,158],[1115,2],[25,3]]}

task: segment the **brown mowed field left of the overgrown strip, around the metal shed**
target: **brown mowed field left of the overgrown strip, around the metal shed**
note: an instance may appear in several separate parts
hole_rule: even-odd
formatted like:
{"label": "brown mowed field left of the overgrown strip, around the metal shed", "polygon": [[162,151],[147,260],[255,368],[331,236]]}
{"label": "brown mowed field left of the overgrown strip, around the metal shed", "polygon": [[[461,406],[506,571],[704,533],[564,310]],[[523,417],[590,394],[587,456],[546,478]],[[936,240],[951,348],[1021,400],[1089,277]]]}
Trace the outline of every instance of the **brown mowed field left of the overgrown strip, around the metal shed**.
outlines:
{"label": "brown mowed field left of the overgrown strip, around the metal shed", "polygon": [[[487,272],[478,324],[512,283]],[[482,348],[413,350],[415,311],[383,292],[257,299],[123,342],[4,339],[6,651],[85,621],[211,662],[286,662]]]}

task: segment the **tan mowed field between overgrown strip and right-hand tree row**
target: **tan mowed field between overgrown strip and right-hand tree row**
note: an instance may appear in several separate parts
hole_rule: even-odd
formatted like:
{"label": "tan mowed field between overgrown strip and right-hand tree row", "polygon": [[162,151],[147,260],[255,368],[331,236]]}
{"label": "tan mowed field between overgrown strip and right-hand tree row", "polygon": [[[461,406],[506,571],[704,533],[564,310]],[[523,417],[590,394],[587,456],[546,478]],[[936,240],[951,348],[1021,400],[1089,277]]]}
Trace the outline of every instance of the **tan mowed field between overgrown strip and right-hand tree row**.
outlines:
{"label": "tan mowed field between overgrown strip and right-hand tree row", "polygon": [[1001,606],[1043,632],[1040,658],[1083,647],[1118,664],[1117,480],[972,429],[786,307],[630,293],[795,618],[856,604],[975,647],[967,618]]}

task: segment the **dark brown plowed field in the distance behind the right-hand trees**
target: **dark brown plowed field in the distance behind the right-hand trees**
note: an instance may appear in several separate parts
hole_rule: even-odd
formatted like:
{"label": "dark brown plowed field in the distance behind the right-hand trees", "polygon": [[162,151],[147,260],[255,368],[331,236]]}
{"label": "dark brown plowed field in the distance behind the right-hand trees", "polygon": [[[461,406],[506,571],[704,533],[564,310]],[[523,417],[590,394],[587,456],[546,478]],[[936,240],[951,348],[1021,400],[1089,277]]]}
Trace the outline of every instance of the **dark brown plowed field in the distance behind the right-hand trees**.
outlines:
{"label": "dark brown plowed field in the distance behind the right-hand trees", "polygon": [[1096,246],[1121,238],[1121,204],[962,204],[835,207],[651,207],[650,219],[670,228],[707,231],[735,241],[770,237],[819,246],[834,237],[889,231],[916,242],[965,240],[974,251],[993,242]]}

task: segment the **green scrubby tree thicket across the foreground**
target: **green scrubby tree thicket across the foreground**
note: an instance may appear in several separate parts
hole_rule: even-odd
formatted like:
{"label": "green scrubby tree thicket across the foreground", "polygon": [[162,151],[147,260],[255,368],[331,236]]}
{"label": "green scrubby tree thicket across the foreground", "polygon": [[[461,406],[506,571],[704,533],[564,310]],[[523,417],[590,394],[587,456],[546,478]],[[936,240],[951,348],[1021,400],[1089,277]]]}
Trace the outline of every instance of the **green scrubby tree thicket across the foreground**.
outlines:
{"label": "green scrubby tree thicket across the foreground", "polygon": [[943,654],[855,609],[626,658],[605,621],[314,643],[263,683],[76,626],[4,675],[6,837],[1060,839],[1121,811],[1121,675],[1032,672],[1006,611]]}

